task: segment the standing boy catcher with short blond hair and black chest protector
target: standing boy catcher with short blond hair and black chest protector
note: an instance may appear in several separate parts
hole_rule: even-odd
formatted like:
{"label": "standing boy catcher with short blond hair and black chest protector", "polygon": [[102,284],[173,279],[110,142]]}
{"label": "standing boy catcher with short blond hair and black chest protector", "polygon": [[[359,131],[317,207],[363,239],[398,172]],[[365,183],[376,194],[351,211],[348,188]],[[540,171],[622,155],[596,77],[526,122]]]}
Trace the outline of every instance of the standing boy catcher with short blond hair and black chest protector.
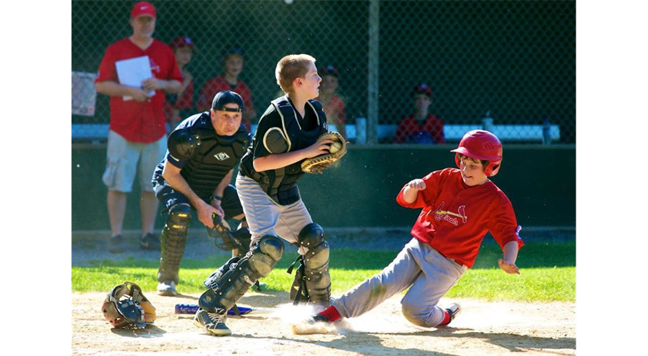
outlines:
{"label": "standing boy catcher with short blond hair and black chest protector", "polygon": [[230,259],[205,280],[208,289],[199,299],[201,309],[194,318],[196,326],[212,335],[231,335],[223,317],[281,259],[284,244],[279,237],[298,246],[300,255],[290,299],[322,308],[330,305],[329,246],[297,188],[304,174],[302,164],[329,154],[334,144],[334,139],[323,136],[328,130],[326,115],[314,100],[322,79],[310,55],[283,57],[275,76],[286,95],[265,110],[236,177],[252,235],[250,252]]}

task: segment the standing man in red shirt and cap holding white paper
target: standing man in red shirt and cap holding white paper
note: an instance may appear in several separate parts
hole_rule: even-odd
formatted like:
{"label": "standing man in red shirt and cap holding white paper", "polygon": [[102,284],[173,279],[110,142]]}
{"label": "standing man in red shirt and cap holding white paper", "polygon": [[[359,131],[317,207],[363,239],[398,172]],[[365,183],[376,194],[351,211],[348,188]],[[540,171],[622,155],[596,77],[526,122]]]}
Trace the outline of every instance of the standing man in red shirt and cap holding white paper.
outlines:
{"label": "standing man in red shirt and cap holding white paper", "polygon": [[[150,176],[166,150],[164,92],[179,92],[182,76],[171,49],[153,39],[155,8],[140,1],[130,12],[130,37],[112,43],[99,65],[94,86],[97,92],[110,96],[110,132],[103,182],[108,186],[110,215],[110,251],[121,252],[121,229],[126,210],[126,195],[132,190],[139,172],[142,215],[141,247],[159,250],[159,237],[153,234],[158,201],[153,194]],[[147,56],[152,77],[141,87],[119,83],[115,63],[124,59]],[[154,94],[150,95],[150,92]],[[131,97],[125,100],[123,97]]]}

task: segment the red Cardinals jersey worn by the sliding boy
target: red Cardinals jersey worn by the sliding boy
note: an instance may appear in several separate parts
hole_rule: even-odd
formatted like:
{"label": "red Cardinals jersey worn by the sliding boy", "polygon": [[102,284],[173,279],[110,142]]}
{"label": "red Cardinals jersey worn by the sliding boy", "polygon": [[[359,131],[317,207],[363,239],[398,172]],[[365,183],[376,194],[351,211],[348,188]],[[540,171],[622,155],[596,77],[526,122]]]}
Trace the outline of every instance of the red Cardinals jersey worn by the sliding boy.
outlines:
{"label": "red Cardinals jersey worn by the sliding boy", "polygon": [[405,208],[423,208],[412,236],[441,255],[472,267],[487,231],[501,248],[510,241],[517,241],[518,248],[524,245],[511,201],[492,181],[467,186],[456,168],[436,170],[423,181],[426,188],[414,203],[403,199],[405,186],[396,201]]}

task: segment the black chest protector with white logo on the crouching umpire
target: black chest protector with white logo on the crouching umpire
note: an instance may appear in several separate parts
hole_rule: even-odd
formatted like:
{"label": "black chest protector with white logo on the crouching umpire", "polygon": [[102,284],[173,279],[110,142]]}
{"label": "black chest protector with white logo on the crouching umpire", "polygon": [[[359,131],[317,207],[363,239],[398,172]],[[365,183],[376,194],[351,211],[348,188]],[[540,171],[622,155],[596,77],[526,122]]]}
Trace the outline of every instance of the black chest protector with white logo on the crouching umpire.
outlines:
{"label": "black chest protector with white logo on the crouching umpire", "polygon": [[199,135],[200,144],[187,161],[180,174],[199,197],[207,197],[221,183],[227,172],[243,156],[248,135],[245,126],[232,136],[216,135],[209,113],[203,112],[190,128],[192,135]]}

